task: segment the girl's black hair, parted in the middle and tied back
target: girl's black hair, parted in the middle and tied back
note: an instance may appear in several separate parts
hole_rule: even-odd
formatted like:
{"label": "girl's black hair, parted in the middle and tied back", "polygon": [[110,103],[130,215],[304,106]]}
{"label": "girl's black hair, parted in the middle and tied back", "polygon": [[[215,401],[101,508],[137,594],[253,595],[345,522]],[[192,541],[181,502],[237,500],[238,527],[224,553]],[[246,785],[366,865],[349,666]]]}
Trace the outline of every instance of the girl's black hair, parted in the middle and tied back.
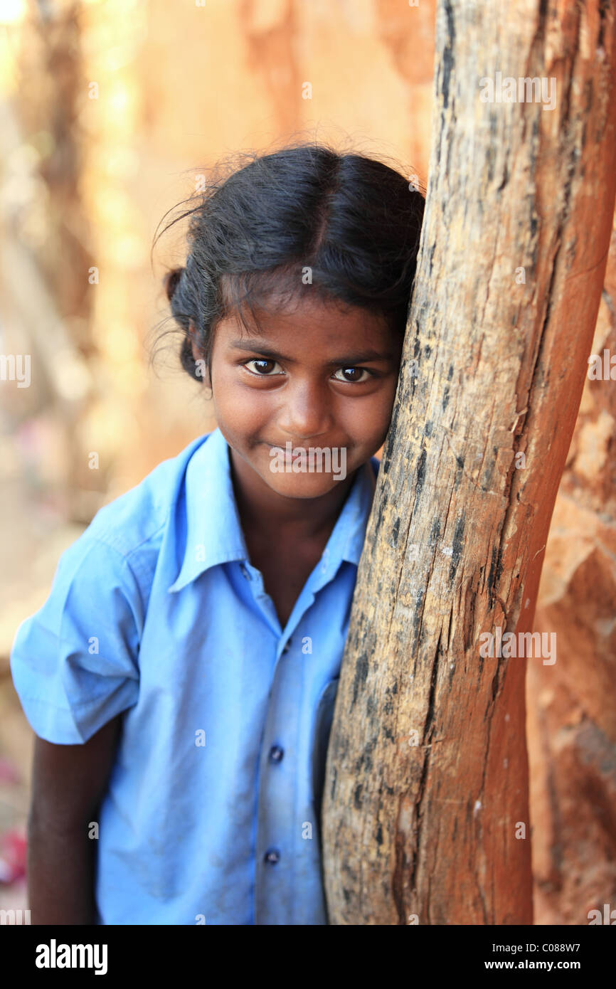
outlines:
{"label": "girl's black hair, parted in the middle and tied back", "polygon": [[192,334],[210,373],[220,319],[233,313],[249,331],[244,303],[258,325],[253,306],[284,294],[381,314],[403,338],[425,204],[410,178],[313,141],[240,152],[202,176],[180,204],[190,208],[163,230],[190,217],[186,264],[163,281],[191,377],[204,380]]}

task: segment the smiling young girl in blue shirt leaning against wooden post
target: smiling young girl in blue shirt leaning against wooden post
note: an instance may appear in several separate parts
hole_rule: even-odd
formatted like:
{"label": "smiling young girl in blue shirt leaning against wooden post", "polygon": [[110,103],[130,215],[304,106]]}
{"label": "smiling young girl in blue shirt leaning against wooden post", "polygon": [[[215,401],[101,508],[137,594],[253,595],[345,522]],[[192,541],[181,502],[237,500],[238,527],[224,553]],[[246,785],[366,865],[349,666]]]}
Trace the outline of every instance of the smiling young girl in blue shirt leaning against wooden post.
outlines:
{"label": "smiling young girl in blue shirt leaning against wooden post", "polygon": [[217,428],[96,514],[13,644],[34,924],[327,923],[328,732],[423,205],[304,144],[185,214],[166,288]]}

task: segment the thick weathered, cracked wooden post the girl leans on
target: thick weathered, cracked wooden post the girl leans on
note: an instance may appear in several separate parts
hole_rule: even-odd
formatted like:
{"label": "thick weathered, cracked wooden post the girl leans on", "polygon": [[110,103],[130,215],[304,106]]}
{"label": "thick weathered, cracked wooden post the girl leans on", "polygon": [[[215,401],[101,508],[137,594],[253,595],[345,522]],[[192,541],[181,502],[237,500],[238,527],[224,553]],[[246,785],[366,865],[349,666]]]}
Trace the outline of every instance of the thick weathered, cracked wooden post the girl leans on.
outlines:
{"label": "thick weathered, cracked wooden post the girl leans on", "polygon": [[330,924],[532,923],[524,676],[558,650],[524,633],[607,258],[615,35],[614,0],[439,0],[417,277],[327,755]]}

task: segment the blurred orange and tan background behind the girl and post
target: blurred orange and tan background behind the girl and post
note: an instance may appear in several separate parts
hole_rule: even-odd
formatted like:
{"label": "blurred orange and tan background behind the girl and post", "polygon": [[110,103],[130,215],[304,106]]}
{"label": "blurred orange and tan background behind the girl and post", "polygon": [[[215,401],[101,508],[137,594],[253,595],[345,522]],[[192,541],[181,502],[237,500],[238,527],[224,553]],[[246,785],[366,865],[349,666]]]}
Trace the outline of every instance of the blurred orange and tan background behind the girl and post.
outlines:
{"label": "blurred orange and tan background behind the girl and post", "polygon": [[[179,336],[149,363],[173,325],[162,275],[185,260],[182,224],[150,260],[156,228],[220,158],[296,137],[424,187],[434,27],[435,0],[0,0],[0,908],[27,907],[17,626],[98,508],[216,426]],[[615,418],[614,383],[586,380],[535,623],[558,661],[528,663],[538,924],[616,906]]]}

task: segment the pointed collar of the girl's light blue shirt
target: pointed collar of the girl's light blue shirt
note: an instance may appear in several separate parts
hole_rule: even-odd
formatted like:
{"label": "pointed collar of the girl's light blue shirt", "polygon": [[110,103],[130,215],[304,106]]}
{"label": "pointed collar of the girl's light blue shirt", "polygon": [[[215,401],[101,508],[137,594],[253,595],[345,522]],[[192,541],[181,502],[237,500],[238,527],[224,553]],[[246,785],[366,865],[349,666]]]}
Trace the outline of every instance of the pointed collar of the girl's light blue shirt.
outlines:
{"label": "pointed collar of the girl's light blue shirt", "polygon": [[[231,560],[249,563],[233,492],[228,449],[217,427],[204,437],[188,462],[181,499],[186,516],[186,550],[170,591],[181,590],[217,564]],[[342,560],[359,564],[376,489],[378,464],[373,457],[357,472],[323,551],[319,585],[331,580]]]}

